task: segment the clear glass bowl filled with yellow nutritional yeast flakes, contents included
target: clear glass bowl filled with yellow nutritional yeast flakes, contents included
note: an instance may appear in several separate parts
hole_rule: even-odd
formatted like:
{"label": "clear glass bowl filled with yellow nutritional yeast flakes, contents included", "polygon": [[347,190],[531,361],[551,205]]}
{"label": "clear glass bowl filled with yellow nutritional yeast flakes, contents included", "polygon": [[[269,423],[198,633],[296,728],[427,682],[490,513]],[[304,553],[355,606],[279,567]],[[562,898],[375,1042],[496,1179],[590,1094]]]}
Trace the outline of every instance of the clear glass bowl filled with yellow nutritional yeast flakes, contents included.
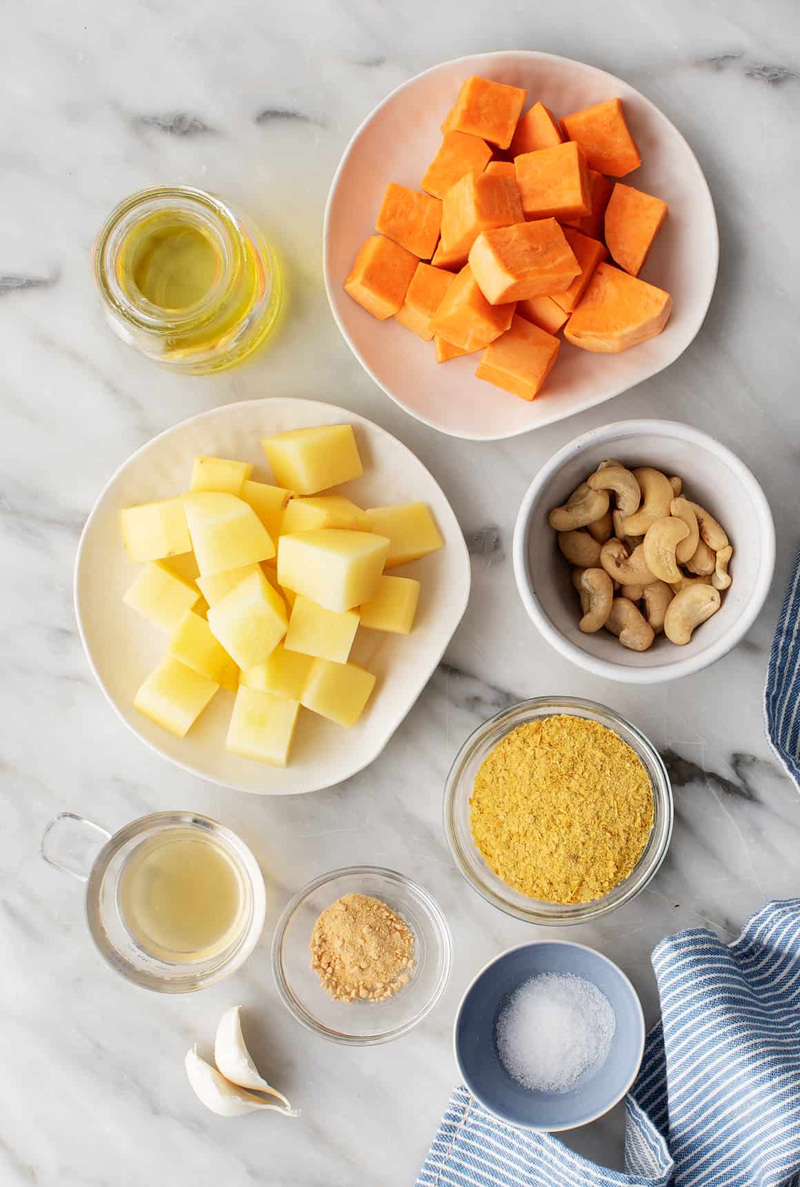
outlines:
{"label": "clear glass bowl filled with yellow nutritional yeast flakes, contents included", "polygon": [[672,823],[653,743],[577,697],[536,697],[489,718],[445,785],[459,870],[487,902],[531,923],[584,923],[629,902],[661,865]]}

